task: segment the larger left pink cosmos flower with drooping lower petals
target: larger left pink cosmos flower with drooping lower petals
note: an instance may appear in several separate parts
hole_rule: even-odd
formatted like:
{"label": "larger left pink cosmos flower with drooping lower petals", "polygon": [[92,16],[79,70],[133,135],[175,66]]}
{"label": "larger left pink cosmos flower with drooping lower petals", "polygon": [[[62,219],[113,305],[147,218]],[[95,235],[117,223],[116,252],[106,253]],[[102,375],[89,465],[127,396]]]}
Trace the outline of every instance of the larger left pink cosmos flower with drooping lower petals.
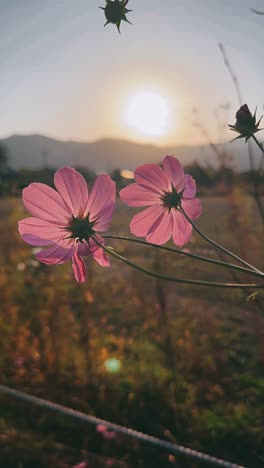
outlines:
{"label": "larger left pink cosmos flower with drooping lower petals", "polygon": [[47,265],[72,260],[75,279],[83,283],[86,267],[82,257],[92,255],[108,267],[109,259],[92,236],[104,244],[97,233],[108,229],[115,206],[115,183],[102,174],[97,177],[90,194],[85,179],[70,167],[59,169],[54,176],[54,190],[41,183],[23,190],[23,203],[33,215],[18,223],[25,242],[46,247],[36,254]]}

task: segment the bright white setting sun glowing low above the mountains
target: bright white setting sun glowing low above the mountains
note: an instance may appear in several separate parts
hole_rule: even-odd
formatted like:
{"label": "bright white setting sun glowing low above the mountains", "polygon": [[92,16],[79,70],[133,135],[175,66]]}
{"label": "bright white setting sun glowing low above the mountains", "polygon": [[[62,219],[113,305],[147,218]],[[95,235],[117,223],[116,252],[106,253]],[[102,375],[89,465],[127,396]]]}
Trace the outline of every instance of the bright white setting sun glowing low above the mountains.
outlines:
{"label": "bright white setting sun glowing low above the mountains", "polygon": [[160,137],[168,132],[169,105],[156,92],[143,91],[128,101],[126,120],[130,127],[146,137]]}

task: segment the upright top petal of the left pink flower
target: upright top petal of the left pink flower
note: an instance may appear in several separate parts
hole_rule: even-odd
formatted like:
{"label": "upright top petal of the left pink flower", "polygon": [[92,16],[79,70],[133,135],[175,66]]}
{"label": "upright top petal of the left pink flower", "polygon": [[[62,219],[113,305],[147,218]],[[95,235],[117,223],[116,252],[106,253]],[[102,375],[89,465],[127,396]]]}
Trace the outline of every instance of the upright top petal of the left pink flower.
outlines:
{"label": "upright top petal of the left pink flower", "polygon": [[84,177],[71,167],[59,169],[54,184],[71,214],[83,215],[88,202],[88,187]]}

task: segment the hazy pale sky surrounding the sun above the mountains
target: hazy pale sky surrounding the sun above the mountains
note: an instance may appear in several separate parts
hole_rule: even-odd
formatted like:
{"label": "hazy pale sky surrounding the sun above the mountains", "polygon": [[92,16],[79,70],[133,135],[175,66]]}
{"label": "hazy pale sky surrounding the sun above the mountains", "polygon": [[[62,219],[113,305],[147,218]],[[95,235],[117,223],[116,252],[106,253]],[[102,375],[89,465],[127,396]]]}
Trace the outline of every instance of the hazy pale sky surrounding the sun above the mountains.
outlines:
{"label": "hazy pale sky surrounding the sun above the mountains", "polygon": [[140,91],[169,101],[169,128],[153,143],[201,141],[193,108],[217,138],[215,109],[238,107],[219,52],[225,45],[245,101],[264,102],[263,0],[130,0],[119,35],[103,27],[104,0],[0,0],[0,137],[141,140],[126,122]]}

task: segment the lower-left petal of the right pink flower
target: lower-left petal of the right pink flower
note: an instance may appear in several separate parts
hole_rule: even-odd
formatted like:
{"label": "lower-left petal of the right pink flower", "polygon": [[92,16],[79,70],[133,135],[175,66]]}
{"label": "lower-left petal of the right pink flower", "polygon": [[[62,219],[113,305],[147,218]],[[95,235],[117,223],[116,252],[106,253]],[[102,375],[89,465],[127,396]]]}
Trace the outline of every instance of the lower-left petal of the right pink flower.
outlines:
{"label": "lower-left petal of the right pink flower", "polygon": [[135,236],[145,237],[151,226],[162,215],[162,212],[162,206],[155,205],[138,213],[134,218],[132,218],[130,223],[131,233]]}

